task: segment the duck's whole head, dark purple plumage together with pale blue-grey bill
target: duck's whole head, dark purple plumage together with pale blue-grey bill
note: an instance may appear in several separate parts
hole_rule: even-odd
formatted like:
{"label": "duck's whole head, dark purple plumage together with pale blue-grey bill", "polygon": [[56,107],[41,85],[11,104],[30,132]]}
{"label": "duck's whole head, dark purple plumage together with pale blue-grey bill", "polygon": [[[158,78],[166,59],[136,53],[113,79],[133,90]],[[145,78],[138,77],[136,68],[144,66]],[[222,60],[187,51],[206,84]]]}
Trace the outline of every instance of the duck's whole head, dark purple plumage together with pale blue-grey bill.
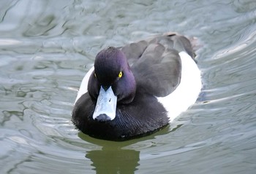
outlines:
{"label": "duck's whole head, dark purple plumage together with pale blue-grey bill", "polygon": [[117,104],[132,102],[135,91],[135,77],[124,53],[115,47],[99,52],[88,84],[89,95],[97,102],[93,119],[99,122],[115,119]]}

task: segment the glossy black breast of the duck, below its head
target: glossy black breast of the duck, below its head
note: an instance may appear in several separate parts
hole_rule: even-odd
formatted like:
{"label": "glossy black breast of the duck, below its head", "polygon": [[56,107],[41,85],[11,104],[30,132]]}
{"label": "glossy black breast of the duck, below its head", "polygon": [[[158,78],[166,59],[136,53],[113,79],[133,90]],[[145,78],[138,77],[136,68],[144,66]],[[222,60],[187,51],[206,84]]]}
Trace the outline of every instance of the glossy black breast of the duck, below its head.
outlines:
{"label": "glossy black breast of the duck, below its head", "polygon": [[88,93],[75,103],[72,122],[94,138],[122,141],[135,136],[148,135],[168,124],[165,108],[153,96],[137,92],[132,103],[118,105],[116,118],[108,122],[92,119],[95,103]]}

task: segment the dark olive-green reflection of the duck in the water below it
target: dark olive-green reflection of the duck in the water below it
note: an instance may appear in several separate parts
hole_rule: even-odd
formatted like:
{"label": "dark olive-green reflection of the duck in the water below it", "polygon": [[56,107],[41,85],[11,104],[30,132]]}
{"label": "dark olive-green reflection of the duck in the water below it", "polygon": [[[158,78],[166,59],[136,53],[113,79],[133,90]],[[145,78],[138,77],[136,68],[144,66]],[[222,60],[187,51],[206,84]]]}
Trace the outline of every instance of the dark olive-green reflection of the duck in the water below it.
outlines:
{"label": "dark olive-green reflection of the duck in the water below it", "polygon": [[94,170],[97,171],[97,174],[134,173],[135,170],[138,170],[140,151],[129,149],[127,146],[132,146],[132,144],[138,142],[153,140],[157,135],[165,135],[170,133],[170,131],[176,130],[178,127],[181,127],[181,125],[170,130],[170,126],[167,126],[153,135],[123,142],[102,141],[91,138],[83,133],[79,133],[78,136],[84,141],[102,146],[102,149],[86,152],[86,158],[91,159],[92,166],[95,167]]}

